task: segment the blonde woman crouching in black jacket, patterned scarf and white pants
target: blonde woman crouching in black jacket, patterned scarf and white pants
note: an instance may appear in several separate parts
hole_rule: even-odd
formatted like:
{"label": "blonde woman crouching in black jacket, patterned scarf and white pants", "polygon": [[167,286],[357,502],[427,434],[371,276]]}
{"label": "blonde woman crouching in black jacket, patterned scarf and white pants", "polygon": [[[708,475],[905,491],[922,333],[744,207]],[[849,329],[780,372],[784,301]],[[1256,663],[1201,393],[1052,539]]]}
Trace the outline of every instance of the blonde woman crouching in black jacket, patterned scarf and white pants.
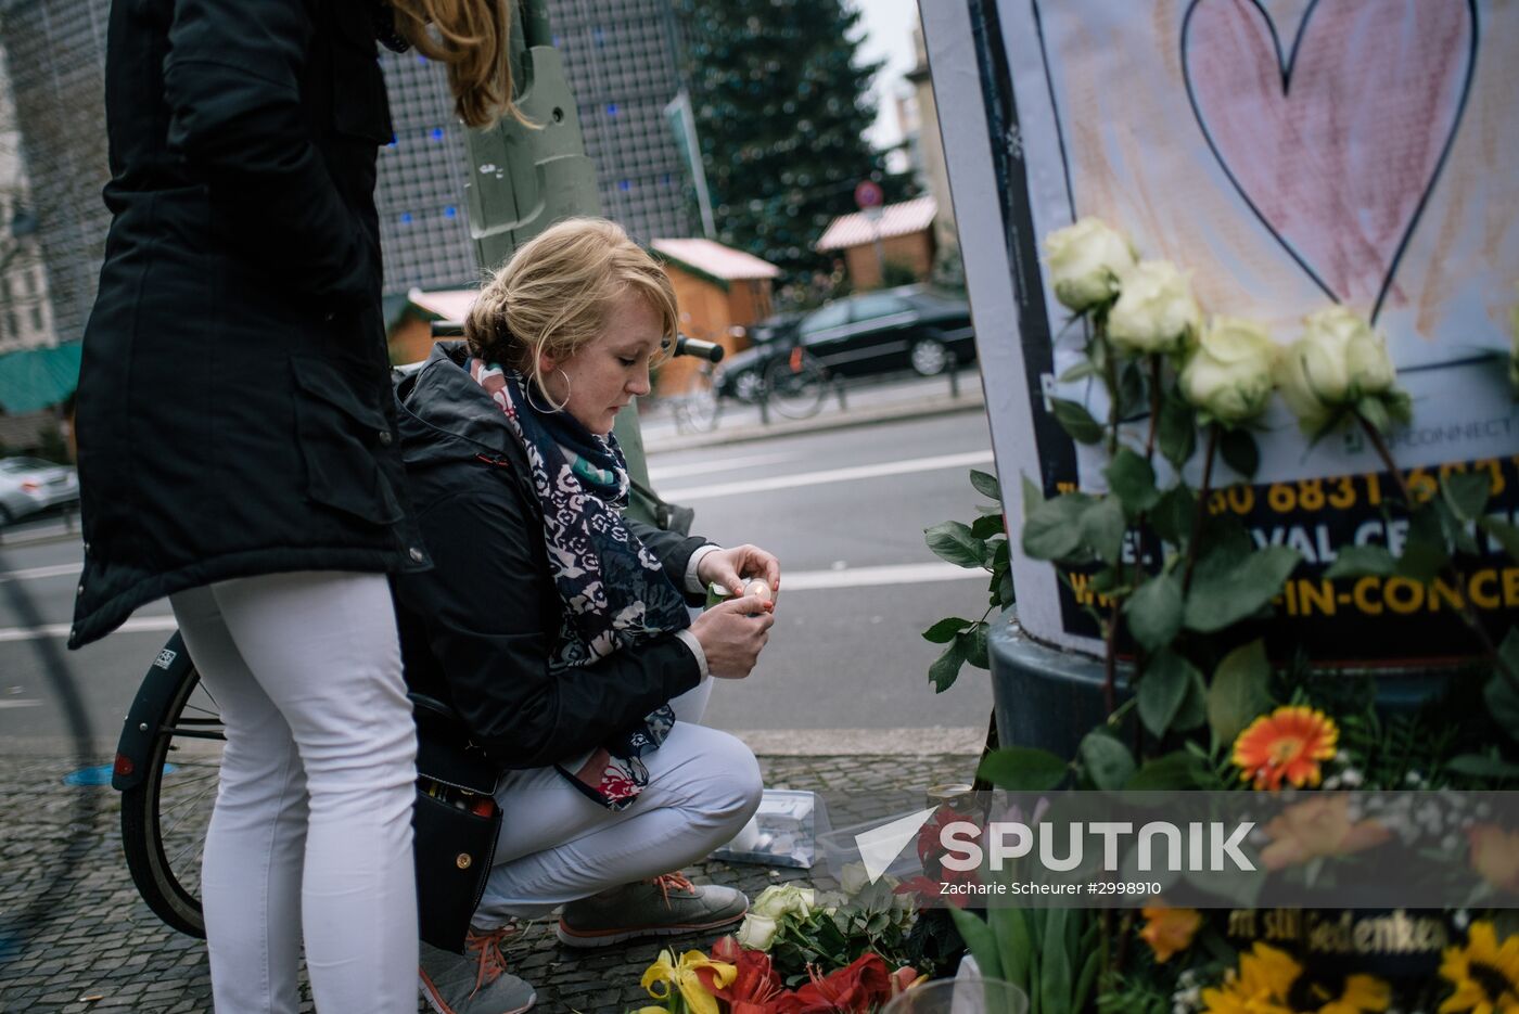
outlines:
{"label": "blonde woman crouching in black jacket, patterned scarf and white pants", "polygon": [[709,677],[743,679],[770,603],[691,621],[708,581],[779,565],[627,521],[612,422],[649,392],[674,293],[611,222],[573,219],[485,287],[465,342],[439,343],[401,396],[403,455],[433,569],[398,581],[407,679],[448,700],[501,767],[495,867],[463,956],[422,946],[445,1012],[527,1009],[504,970],[512,917],[564,906],[559,940],[600,947],[738,921],[747,900],[670,870],[731,839],[760,768],[699,723]]}

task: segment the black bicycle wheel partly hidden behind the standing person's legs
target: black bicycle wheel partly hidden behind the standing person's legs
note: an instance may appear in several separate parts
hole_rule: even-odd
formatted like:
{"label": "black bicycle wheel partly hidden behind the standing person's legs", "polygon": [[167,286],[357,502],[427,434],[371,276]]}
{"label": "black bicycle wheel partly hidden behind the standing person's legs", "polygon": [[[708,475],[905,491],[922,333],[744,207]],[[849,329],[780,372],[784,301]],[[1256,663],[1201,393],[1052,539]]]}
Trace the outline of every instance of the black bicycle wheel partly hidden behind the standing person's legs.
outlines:
{"label": "black bicycle wheel partly hidden behind the standing person's legs", "polygon": [[158,918],[205,937],[201,849],[222,770],[222,712],[191,666],[169,701],[147,774],[122,792],[122,847],[132,883]]}

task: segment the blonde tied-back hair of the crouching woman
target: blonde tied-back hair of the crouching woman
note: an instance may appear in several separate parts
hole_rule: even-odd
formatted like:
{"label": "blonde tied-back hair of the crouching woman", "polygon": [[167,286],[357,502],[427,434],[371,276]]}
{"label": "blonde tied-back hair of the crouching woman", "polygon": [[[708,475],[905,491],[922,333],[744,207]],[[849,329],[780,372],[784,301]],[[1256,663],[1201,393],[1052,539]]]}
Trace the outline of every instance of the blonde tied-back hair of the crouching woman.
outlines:
{"label": "blonde tied-back hair of the crouching woman", "polygon": [[668,345],[677,317],[664,269],[617,223],[565,219],[491,276],[465,317],[465,342],[477,358],[510,366],[542,390],[542,357],[565,360],[595,340],[612,302],[627,291],[659,314]]}

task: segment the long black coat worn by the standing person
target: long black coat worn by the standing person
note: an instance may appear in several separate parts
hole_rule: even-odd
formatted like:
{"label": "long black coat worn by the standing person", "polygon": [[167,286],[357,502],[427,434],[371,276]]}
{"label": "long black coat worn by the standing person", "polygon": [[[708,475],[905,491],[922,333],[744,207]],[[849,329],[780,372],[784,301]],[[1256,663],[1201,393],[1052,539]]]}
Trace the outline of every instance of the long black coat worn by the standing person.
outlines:
{"label": "long black coat worn by the standing person", "polygon": [[115,0],[70,647],[146,601],[427,562],[380,317],[372,5]]}

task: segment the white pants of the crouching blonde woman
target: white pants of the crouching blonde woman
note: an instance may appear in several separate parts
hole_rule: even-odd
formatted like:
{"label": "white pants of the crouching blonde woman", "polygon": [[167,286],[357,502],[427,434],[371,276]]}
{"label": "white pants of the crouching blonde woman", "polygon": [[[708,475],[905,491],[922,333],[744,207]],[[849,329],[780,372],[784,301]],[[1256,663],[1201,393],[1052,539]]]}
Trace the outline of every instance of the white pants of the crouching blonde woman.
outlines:
{"label": "white pants of the crouching blonde woman", "polygon": [[644,754],[649,785],[624,811],[582,795],[553,768],[510,771],[495,791],[501,836],[474,924],[536,918],[559,905],[696,862],[760,808],[760,764],[741,741],[697,723],[711,680],[670,701],[674,729]]}

